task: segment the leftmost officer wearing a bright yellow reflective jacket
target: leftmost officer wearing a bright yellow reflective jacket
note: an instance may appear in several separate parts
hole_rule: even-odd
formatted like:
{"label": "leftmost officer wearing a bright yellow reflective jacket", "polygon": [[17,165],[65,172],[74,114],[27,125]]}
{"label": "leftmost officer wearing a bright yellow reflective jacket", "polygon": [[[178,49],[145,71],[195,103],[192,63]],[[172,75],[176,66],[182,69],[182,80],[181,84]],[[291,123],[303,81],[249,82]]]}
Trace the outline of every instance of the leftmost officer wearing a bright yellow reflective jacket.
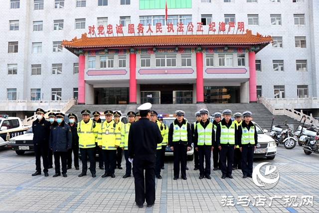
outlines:
{"label": "leftmost officer wearing a bright yellow reflective jacket", "polygon": [[81,112],[83,120],[78,123],[77,132],[79,136],[79,148],[82,157],[82,173],[79,177],[86,176],[88,170],[88,160],[90,160],[90,172],[92,177],[95,178],[95,135],[93,128],[95,122],[90,119],[91,112],[89,110],[83,110]]}

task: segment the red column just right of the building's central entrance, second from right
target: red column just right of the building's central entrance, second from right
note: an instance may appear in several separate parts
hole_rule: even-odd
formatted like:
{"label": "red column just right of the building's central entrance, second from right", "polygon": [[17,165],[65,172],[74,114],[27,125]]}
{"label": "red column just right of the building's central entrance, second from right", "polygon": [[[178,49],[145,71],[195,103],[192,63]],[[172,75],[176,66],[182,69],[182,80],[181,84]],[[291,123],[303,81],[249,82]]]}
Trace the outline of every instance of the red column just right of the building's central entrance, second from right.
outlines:
{"label": "red column just right of the building's central entrance, second from right", "polygon": [[196,103],[204,103],[203,53],[196,52]]}

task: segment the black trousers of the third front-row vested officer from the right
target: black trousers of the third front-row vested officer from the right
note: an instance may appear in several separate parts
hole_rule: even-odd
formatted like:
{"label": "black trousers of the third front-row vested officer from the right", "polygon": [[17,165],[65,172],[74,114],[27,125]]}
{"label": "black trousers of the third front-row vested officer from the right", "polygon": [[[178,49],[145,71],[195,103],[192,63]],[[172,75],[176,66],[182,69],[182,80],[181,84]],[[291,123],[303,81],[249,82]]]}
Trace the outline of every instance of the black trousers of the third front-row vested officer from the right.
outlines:
{"label": "black trousers of the third front-row vested officer from the right", "polygon": [[[211,157],[211,146],[198,146],[199,156],[199,176],[210,176],[210,157]],[[205,160],[205,169],[204,169]]]}

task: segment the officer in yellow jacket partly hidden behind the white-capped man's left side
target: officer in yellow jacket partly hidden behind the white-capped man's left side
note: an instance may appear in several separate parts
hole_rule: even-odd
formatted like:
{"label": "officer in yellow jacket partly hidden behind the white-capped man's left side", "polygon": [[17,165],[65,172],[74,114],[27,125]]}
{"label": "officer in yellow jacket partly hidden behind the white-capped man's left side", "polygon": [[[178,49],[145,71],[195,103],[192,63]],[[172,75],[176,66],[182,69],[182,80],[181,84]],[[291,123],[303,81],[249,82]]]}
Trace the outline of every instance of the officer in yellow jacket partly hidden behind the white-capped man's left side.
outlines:
{"label": "officer in yellow jacket partly hidden behind the white-capped man's left side", "polygon": [[[128,153],[128,141],[129,141],[129,133],[130,133],[130,126],[132,123],[135,122],[135,117],[136,114],[135,112],[128,112],[128,118],[129,118],[129,123],[124,125],[124,128],[121,129],[121,145],[120,147],[122,150],[124,150],[124,157],[126,160],[126,173],[123,176],[123,178],[128,178],[131,177],[131,170],[132,170],[132,164],[129,161],[129,153]],[[134,175],[134,170],[133,170],[133,175]]]}

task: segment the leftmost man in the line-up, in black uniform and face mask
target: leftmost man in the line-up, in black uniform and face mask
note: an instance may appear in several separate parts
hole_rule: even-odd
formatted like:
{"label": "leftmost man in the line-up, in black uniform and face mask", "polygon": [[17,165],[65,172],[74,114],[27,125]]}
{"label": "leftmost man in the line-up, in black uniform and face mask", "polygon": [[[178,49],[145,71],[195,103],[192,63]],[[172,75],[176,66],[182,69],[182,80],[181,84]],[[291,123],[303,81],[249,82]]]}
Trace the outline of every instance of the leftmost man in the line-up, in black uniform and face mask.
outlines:
{"label": "leftmost man in the line-up, in black uniform and face mask", "polygon": [[51,124],[44,119],[44,110],[38,108],[36,110],[36,120],[32,122],[33,145],[35,154],[35,170],[32,176],[41,175],[41,156],[43,161],[44,176],[48,177],[48,149]]}

